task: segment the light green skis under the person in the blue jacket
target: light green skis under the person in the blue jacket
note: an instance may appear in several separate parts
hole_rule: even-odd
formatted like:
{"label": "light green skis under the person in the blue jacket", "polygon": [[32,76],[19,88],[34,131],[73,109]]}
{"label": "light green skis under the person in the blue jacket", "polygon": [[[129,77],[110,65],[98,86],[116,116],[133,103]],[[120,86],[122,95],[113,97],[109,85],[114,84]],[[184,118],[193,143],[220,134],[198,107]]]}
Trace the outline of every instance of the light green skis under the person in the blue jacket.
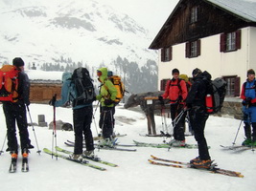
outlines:
{"label": "light green skis under the person in the blue jacket", "polygon": [[[56,147],[56,149],[57,149],[57,151],[59,151],[61,153],[64,153],[64,154],[69,154],[69,155],[73,154],[73,152],[62,149],[60,147]],[[97,169],[97,170],[101,170],[101,171],[105,171],[106,168],[102,167],[102,166],[99,166],[99,165],[96,165],[96,164],[92,164],[92,163],[90,163],[89,160],[95,161],[95,162],[98,162],[98,163],[102,163],[102,164],[105,164],[105,165],[108,165],[108,166],[111,166],[111,167],[117,167],[118,166],[117,164],[102,160],[102,159],[97,158],[97,157],[92,158],[92,157],[87,157],[87,156],[82,155],[81,157],[83,159],[72,159],[70,156],[65,156],[65,155],[62,155],[62,154],[59,154],[59,153],[53,153],[52,151],[50,151],[47,148],[44,148],[43,151],[48,155],[51,155],[51,156],[54,155],[54,156],[56,156],[58,158],[61,158],[61,159],[67,159],[67,160],[70,160],[70,161],[74,161],[74,162],[80,163],[84,166],[88,166],[88,167],[91,167],[91,168],[94,168],[94,169]]]}

